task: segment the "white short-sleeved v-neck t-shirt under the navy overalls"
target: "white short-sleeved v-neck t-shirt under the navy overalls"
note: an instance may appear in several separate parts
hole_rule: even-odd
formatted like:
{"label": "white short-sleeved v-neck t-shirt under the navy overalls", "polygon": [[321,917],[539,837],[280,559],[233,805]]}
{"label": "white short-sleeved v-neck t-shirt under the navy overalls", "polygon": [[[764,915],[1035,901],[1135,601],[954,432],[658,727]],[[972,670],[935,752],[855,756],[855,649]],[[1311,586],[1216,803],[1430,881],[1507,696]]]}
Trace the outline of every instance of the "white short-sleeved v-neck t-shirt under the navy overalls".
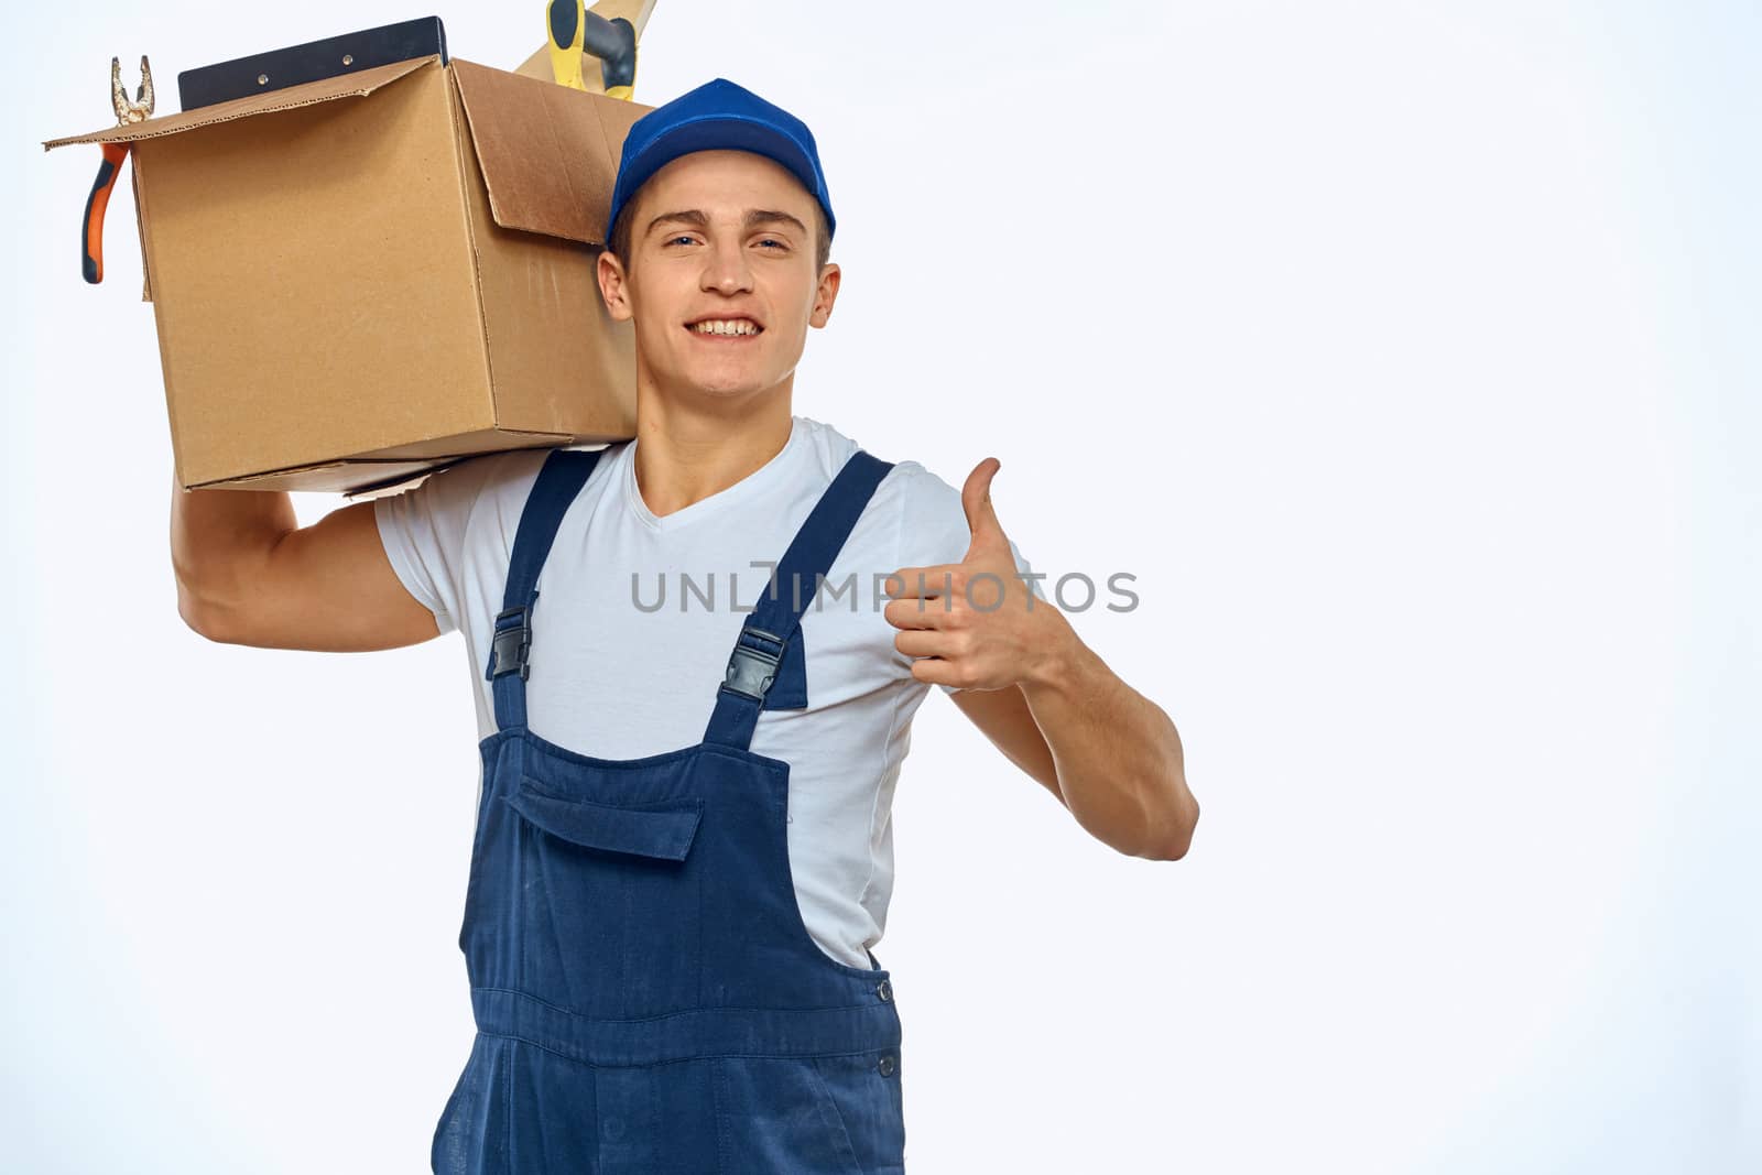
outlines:
{"label": "white short-sleeved v-neck t-shirt under the navy overalls", "polygon": [[[796,416],[788,444],[761,469],[657,518],[636,488],[636,444],[618,442],[599,458],[562,520],[532,611],[527,726],[606,759],[703,742],[728,655],[774,564],[860,447]],[[495,733],[488,638],[544,454],[472,458],[374,504],[403,587],[440,632],[465,634],[479,740]],[[960,562],[969,541],[960,490],[916,462],[897,462],[826,573],[826,592],[802,615],[807,708],[761,710],[752,735],[756,754],[789,765],[789,868],[802,921],[826,955],[853,967],[869,967],[865,948],[886,927],[893,786],[927,692],[911,676],[913,659],[893,648],[899,629],[881,615],[883,580],[899,567]],[[1029,573],[1013,543],[1011,553]],[[855,585],[833,595],[851,574]],[[811,588],[803,583],[803,595]],[[983,606],[990,595],[981,592],[974,599]],[[478,789],[481,803],[481,763]]]}

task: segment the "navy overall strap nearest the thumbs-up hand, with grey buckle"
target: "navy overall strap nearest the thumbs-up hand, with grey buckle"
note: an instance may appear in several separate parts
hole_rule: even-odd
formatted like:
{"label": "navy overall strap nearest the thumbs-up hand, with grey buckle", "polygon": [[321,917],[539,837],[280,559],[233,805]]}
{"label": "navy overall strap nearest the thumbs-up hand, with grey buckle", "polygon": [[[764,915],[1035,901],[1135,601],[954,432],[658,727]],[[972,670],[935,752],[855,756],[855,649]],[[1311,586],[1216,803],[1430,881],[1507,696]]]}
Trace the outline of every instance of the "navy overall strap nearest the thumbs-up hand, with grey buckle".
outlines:
{"label": "navy overall strap nearest the thumbs-up hand, with grey buckle", "polygon": [[839,557],[851,528],[890,469],[892,462],[858,449],[814,504],[777,564],[774,590],[759,597],[745,627],[735,638],[735,652],[728,657],[728,671],[715,689],[715,710],[710,713],[703,742],[740,750],[752,743],[765,696],[777,680],[777,666],[789,643],[800,636],[802,613],[818,595],[821,580],[832,571],[832,560]]}

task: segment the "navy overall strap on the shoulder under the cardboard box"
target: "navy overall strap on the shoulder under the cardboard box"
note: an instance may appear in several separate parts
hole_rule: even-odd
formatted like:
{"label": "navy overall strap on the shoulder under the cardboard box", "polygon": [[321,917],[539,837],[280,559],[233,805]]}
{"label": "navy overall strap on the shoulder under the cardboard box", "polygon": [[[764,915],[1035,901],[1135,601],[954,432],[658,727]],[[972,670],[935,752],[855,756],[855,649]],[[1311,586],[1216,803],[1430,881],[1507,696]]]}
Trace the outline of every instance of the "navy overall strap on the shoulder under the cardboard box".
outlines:
{"label": "navy overall strap on the shoulder under the cardboard box", "polygon": [[587,484],[604,449],[552,449],[527,493],[515,530],[515,550],[507,557],[507,588],[502,611],[490,638],[490,664],[485,676],[495,694],[497,729],[527,724],[527,673],[532,654],[532,606],[539,599],[539,571],[557,539],[557,527],[569,504]]}

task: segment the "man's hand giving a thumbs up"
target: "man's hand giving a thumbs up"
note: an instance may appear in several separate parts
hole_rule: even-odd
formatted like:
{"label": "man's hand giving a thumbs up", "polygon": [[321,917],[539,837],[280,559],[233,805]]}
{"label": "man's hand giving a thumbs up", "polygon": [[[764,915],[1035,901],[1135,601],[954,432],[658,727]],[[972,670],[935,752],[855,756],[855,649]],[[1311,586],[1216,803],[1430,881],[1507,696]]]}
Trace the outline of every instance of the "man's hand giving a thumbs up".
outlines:
{"label": "man's hand giving a thumbs up", "polygon": [[900,632],[893,647],[918,657],[911,675],[932,685],[1008,689],[1050,671],[1071,632],[1062,613],[1036,599],[1017,574],[1010,539],[992,507],[1003,463],[988,456],[960,488],[971,543],[959,564],[900,567],[888,576],[883,615]]}

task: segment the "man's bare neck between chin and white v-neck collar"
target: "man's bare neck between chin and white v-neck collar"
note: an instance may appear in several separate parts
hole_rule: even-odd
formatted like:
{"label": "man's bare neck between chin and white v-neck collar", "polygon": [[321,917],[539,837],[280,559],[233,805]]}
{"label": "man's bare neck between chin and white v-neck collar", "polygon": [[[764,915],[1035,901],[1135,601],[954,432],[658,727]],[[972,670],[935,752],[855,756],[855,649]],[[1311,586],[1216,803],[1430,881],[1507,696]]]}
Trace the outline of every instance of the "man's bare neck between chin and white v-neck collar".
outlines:
{"label": "man's bare neck between chin and white v-neck collar", "polygon": [[636,490],[655,518],[751,477],[782,453],[789,382],[735,403],[636,398]]}

